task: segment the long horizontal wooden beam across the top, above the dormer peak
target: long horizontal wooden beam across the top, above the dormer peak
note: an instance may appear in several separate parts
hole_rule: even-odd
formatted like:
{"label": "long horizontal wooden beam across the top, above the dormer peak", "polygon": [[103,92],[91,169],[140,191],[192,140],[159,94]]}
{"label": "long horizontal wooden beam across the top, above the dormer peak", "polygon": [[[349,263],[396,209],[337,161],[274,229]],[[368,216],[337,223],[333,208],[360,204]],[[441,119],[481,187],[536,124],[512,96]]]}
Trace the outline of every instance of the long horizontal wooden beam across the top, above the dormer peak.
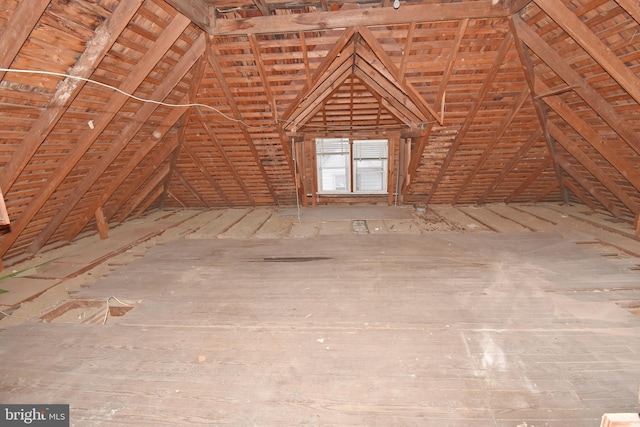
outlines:
{"label": "long horizontal wooden beam across the top, above the dormer peak", "polygon": [[491,2],[428,3],[333,12],[257,16],[246,19],[218,19],[208,29],[212,35],[269,34],[318,31],[332,28],[409,24],[412,22],[455,21],[460,19],[504,18],[511,12]]}

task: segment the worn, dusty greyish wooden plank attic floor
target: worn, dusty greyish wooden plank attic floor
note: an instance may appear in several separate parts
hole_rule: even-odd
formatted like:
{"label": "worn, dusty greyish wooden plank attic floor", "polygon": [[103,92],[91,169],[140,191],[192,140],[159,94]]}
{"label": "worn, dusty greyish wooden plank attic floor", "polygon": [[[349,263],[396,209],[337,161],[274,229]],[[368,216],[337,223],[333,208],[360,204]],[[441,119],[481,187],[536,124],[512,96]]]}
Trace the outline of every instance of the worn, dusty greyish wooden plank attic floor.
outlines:
{"label": "worn, dusty greyish wooden plank attic floor", "polygon": [[[504,210],[449,212],[464,219],[447,232],[383,215],[378,234],[330,215],[306,238],[295,221],[270,237],[259,210],[190,214],[68,286],[84,306],[0,330],[0,401],[69,403],[76,426],[597,426],[636,411],[637,240],[548,206],[508,231]],[[111,296],[134,308],[102,324]]]}

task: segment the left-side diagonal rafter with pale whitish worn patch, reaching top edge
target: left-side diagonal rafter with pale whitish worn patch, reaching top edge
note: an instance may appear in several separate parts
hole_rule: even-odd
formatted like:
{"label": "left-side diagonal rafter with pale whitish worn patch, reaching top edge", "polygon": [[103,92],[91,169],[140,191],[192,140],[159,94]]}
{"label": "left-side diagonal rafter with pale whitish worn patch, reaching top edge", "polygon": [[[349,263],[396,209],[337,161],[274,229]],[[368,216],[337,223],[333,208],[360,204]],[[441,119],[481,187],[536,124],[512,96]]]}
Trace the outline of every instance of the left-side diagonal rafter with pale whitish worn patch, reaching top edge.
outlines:
{"label": "left-side diagonal rafter with pale whitish worn patch, reaching top edge", "polygon": [[[46,3],[48,3],[48,1]],[[90,77],[120,36],[120,33],[122,33],[131,18],[136,14],[141,4],[142,0],[120,2],[113,14],[101,26],[96,28],[95,36],[89,41],[82,56],[68,74],[78,78]],[[32,8],[37,5],[34,5],[30,1],[23,1],[20,3],[20,6],[24,6],[23,8]],[[28,25],[25,26],[25,28],[27,27]],[[7,28],[6,31],[10,29],[11,28]],[[5,33],[3,33],[2,38],[0,38],[2,42],[5,41]],[[19,43],[20,46],[22,45],[22,42],[14,42]],[[20,173],[22,173],[22,170],[31,160],[31,157],[33,157],[38,150],[38,147],[42,144],[42,141],[44,141],[49,132],[51,132],[51,129],[58,123],[60,117],[62,117],[67,107],[73,102],[84,85],[85,82],[83,80],[72,77],[67,77],[58,84],[58,88],[46,109],[34,122],[33,126],[24,136],[22,144],[20,144],[12,154],[9,162],[7,162],[5,167],[0,171],[0,185],[6,192],[9,191]]]}

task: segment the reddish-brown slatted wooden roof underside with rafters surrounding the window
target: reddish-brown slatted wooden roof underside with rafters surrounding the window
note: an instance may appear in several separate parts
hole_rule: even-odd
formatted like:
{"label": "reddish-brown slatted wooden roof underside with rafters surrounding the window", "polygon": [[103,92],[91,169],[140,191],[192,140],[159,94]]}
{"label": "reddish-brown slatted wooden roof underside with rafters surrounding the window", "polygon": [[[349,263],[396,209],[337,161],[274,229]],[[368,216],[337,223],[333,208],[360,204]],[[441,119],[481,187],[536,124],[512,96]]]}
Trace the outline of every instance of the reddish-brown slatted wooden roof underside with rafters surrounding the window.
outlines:
{"label": "reddish-brown slatted wooden roof underside with rafters surrounding the window", "polygon": [[0,0],[0,34],[5,260],[306,203],[317,135],[390,135],[402,203],[640,212],[636,0]]}

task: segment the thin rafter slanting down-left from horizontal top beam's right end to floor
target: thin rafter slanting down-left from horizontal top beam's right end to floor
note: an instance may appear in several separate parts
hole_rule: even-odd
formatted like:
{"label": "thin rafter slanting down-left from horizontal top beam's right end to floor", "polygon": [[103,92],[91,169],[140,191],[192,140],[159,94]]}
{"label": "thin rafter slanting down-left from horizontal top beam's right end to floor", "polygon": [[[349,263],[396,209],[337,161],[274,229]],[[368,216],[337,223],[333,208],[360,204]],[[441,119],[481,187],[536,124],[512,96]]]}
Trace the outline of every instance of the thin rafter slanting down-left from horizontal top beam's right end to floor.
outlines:
{"label": "thin rafter slanting down-left from horizontal top beam's right end to floor", "polygon": [[456,151],[462,144],[462,141],[464,140],[467,132],[469,131],[469,128],[471,127],[471,123],[473,123],[473,120],[475,119],[476,114],[478,113],[478,111],[480,110],[480,107],[482,106],[482,102],[484,101],[484,98],[487,96],[487,93],[489,93],[489,90],[493,85],[493,80],[498,74],[498,71],[500,70],[500,67],[503,64],[504,58],[507,56],[507,53],[511,48],[512,41],[513,41],[513,34],[509,32],[507,33],[506,37],[502,40],[502,43],[500,44],[500,48],[496,53],[496,57],[493,60],[493,63],[491,64],[491,70],[487,74],[487,77],[485,78],[484,83],[482,83],[480,92],[476,97],[475,103],[471,106],[471,109],[467,114],[467,118],[465,119],[464,124],[462,125],[462,128],[460,129],[460,131],[458,131],[458,134],[456,135],[456,139],[451,144],[451,147],[449,147],[449,153],[447,154],[444,161],[442,162],[442,166],[440,167],[438,176],[433,181],[429,194],[427,194],[426,203],[429,203],[429,200],[431,200],[431,197],[433,197],[438,186],[440,185],[440,182],[442,181],[445,174],[447,173],[449,166],[453,161],[453,157],[455,156]]}

